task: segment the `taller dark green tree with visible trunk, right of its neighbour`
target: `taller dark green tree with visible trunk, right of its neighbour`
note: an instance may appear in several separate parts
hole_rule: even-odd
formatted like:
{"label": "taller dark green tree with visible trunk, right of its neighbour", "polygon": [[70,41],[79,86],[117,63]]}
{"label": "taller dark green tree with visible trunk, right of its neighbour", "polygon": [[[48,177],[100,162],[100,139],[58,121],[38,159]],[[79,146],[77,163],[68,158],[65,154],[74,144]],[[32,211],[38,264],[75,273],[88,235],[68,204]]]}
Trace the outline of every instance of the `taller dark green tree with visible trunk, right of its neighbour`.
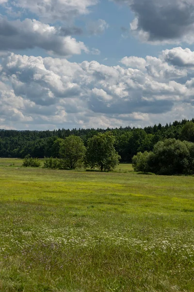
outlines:
{"label": "taller dark green tree with visible trunk, right of its neighbour", "polygon": [[86,165],[101,171],[113,170],[119,164],[120,156],[114,148],[115,138],[112,133],[98,133],[88,140]]}

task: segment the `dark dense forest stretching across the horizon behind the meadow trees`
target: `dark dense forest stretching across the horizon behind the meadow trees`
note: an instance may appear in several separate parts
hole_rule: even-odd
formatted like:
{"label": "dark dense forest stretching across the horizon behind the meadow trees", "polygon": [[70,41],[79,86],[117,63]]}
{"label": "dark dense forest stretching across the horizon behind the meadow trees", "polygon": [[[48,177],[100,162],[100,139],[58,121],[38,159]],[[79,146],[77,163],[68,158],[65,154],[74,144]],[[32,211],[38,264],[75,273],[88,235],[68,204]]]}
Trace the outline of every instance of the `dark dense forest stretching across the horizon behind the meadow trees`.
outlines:
{"label": "dark dense forest stretching across the horizon behind the meadow trees", "polygon": [[0,157],[59,158],[61,139],[71,135],[80,137],[87,147],[90,138],[98,133],[112,132],[114,147],[121,162],[131,162],[138,152],[152,151],[159,141],[175,138],[194,142],[194,119],[175,121],[165,126],[154,125],[145,128],[107,128],[107,129],[59,129],[53,131],[0,130]]}

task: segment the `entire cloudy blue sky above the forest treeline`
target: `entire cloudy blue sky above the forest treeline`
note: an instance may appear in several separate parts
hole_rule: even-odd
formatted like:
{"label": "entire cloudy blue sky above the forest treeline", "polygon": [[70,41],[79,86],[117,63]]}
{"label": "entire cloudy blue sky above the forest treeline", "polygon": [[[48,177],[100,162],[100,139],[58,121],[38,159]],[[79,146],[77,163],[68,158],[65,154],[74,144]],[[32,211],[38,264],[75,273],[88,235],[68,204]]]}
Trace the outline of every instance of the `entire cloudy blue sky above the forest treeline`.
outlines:
{"label": "entire cloudy blue sky above the forest treeline", "polygon": [[0,0],[0,128],[194,117],[194,0]]}

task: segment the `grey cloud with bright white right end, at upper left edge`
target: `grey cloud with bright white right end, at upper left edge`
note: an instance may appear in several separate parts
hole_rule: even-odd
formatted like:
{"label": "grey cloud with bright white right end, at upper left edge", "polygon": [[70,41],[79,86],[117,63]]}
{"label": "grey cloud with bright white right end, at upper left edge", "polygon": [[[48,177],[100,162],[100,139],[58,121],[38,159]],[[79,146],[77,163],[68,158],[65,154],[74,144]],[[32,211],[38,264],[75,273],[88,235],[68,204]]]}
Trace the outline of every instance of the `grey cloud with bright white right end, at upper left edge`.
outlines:
{"label": "grey cloud with bright white right end, at upper left edge", "polygon": [[35,19],[8,21],[0,17],[0,50],[39,47],[50,54],[68,56],[88,53],[83,42],[71,37],[76,28],[56,28]]}

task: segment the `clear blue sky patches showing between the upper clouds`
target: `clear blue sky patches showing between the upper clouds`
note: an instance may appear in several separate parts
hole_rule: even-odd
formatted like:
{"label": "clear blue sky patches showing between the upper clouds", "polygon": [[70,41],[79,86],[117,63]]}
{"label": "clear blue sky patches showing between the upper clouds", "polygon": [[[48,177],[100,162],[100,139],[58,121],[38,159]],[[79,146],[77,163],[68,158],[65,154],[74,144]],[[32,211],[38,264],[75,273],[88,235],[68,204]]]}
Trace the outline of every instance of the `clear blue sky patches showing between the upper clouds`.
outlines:
{"label": "clear blue sky patches showing between the upper clouds", "polygon": [[[19,11],[19,10],[18,10]],[[0,13],[7,16],[6,10],[1,6]],[[11,20],[13,18],[9,17]],[[35,14],[26,12],[21,15],[20,19],[37,18]],[[109,28],[100,35],[89,35],[86,30],[87,23],[104,19]],[[91,54],[72,55],[69,60],[72,62],[82,62],[84,60],[97,60],[106,65],[114,66],[118,64],[123,56],[146,57],[146,55],[158,56],[159,53],[166,48],[166,45],[153,46],[151,44],[142,43],[137,38],[125,33],[122,28],[129,29],[130,22],[134,19],[134,13],[130,9],[126,9],[125,5],[118,5],[113,1],[101,0],[98,4],[90,8],[90,13],[75,19],[75,25],[83,30],[81,36],[76,37],[77,40],[83,41],[89,48],[97,48],[101,54],[94,57]],[[60,25],[60,22],[59,22]],[[168,45],[168,48],[173,48]],[[48,56],[47,52],[40,48],[28,50],[13,50],[16,54]],[[106,59],[107,60],[104,60]]]}

